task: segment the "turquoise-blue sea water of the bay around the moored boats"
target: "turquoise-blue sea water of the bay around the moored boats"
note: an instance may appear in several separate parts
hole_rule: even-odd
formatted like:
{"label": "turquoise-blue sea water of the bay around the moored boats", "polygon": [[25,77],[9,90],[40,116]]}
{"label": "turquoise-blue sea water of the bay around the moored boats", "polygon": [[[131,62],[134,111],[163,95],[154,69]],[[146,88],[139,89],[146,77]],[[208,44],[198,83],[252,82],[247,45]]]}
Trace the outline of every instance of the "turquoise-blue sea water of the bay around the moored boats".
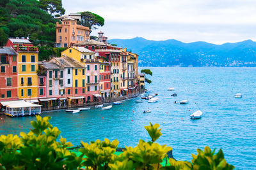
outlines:
{"label": "turquoise-blue sea water of the bay around the moored boats", "polygon": [[[158,143],[172,146],[178,160],[191,160],[196,148],[220,148],[227,162],[237,169],[254,169],[256,162],[256,68],[150,68],[149,93],[158,93],[158,103],[125,101],[112,110],[93,109],[83,115],[65,111],[44,113],[51,116],[63,138],[74,145],[80,141],[118,139],[119,146],[136,146],[139,139],[149,140],[144,129],[149,122],[160,124],[163,136]],[[171,97],[169,87],[177,97]],[[243,98],[235,99],[241,92]],[[188,99],[189,104],[173,104]],[[152,113],[143,114],[150,108]],[[201,110],[200,120],[190,120],[193,111]],[[167,113],[166,113],[167,112]],[[99,114],[99,115],[98,115]],[[35,117],[9,118],[0,123],[0,134],[29,131]],[[102,118],[103,117],[103,118]],[[19,124],[23,127],[19,127]]]}

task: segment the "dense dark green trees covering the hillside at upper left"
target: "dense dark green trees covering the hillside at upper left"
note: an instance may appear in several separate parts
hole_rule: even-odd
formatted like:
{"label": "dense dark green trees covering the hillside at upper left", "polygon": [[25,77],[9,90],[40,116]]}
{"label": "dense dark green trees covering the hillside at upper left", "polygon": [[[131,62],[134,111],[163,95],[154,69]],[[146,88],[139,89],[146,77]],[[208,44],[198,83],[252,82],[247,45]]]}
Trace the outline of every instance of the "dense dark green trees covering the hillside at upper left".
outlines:
{"label": "dense dark green trees covering the hillside at upper left", "polygon": [[4,32],[9,37],[29,36],[35,45],[53,45],[56,21],[36,0],[5,0],[0,6],[0,27]]}

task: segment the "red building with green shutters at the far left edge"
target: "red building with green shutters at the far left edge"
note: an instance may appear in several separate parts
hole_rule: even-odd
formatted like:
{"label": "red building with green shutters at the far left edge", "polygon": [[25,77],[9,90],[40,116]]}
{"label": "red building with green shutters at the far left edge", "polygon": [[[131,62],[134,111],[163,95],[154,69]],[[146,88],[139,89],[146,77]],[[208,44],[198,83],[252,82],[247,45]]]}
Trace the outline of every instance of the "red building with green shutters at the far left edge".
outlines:
{"label": "red building with green shutters at the far left edge", "polygon": [[12,101],[18,97],[17,53],[12,47],[0,48],[0,101]]}

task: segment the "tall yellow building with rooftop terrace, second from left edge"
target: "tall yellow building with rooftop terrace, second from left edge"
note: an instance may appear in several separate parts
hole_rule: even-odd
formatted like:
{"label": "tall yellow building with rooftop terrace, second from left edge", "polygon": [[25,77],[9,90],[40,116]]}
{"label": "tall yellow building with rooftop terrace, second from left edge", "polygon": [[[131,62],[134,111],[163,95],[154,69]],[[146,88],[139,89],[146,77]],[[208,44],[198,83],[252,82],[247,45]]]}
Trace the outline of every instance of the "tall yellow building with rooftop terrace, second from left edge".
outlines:
{"label": "tall yellow building with rooftop terrace, second from left edge", "polygon": [[18,53],[18,96],[19,99],[38,97],[38,48],[17,46]]}

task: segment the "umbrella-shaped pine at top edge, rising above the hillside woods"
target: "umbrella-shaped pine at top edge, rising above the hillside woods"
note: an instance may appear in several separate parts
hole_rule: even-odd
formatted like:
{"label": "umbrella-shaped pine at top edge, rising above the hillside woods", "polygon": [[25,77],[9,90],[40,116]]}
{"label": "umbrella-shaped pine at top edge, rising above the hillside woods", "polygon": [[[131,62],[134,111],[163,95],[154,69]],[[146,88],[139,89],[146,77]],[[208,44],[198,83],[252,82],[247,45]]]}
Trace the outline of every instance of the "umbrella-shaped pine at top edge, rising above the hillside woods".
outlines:
{"label": "umbrella-shaped pine at top edge, rising above the hillside woods", "polygon": [[50,15],[55,14],[55,17],[60,17],[65,13],[61,0],[40,0],[40,8]]}

